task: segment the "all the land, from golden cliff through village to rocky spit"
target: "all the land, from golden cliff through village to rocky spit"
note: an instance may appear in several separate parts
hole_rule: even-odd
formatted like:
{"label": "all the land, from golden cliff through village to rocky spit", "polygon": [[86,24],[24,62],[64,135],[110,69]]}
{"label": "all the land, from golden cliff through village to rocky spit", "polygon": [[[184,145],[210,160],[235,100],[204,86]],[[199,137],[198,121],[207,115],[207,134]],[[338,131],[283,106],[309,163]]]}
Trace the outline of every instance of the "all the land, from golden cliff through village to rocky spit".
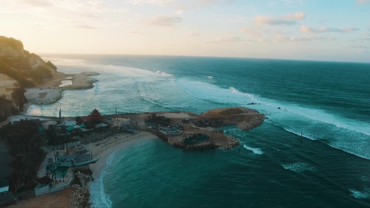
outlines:
{"label": "all the land, from golden cliff through village to rocky spit", "polygon": [[31,104],[55,103],[64,90],[94,87],[98,80],[90,76],[100,74],[61,73],[14,38],[0,36],[0,47],[1,207],[90,207],[88,182],[115,150],[149,139],[184,151],[240,150],[238,132],[223,127],[250,130],[266,119],[245,107],[202,114],[118,114],[116,108],[111,115],[98,109],[75,117],[64,117],[63,109],[59,117],[24,115]]}

